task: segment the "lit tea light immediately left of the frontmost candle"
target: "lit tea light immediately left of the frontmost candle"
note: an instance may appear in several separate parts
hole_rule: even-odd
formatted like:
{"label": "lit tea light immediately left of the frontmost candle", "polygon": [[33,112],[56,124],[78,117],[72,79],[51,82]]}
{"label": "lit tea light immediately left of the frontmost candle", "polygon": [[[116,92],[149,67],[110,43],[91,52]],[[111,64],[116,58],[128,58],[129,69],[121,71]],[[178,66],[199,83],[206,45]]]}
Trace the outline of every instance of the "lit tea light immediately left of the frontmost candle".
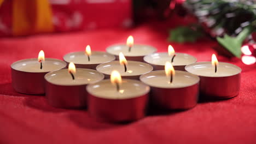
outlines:
{"label": "lit tea light immediately left of the frontmost candle", "polygon": [[60,108],[80,108],[87,103],[86,85],[104,79],[104,75],[92,69],[68,69],[52,71],[45,75],[45,95],[49,104]]}

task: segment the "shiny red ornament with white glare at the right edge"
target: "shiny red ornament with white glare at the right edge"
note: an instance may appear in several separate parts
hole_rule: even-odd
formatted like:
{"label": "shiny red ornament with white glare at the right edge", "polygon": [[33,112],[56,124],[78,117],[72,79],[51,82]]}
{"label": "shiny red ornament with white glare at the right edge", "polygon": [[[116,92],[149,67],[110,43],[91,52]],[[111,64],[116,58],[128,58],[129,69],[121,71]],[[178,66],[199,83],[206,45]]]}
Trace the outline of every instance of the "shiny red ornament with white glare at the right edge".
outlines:
{"label": "shiny red ornament with white glare at the right edge", "polygon": [[256,63],[256,44],[245,44],[241,47],[242,62],[247,65]]}

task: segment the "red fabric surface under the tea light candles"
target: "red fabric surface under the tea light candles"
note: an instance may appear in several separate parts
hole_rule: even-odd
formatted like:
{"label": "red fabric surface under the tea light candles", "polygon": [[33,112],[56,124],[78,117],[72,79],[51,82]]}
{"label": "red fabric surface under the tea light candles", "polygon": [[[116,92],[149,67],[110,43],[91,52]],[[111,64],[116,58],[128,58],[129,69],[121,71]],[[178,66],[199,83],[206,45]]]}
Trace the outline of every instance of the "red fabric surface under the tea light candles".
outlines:
{"label": "red fabric surface under the tea light candles", "polygon": [[[173,26],[179,22],[172,21]],[[149,23],[134,29],[102,29],[65,34],[0,39],[0,143],[256,143],[256,68],[240,59],[218,56],[219,61],[242,68],[238,97],[199,103],[182,112],[155,113],[127,124],[100,123],[86,110],[64,110],[50,106],[44,96],[25,95],[11,87],[10,64],[20,59],[46,57],[62,59],[71,51],[104,51],[124,43],[133,35],[144,43],[167,51],[166,24]],[[176,52],[185,52],[198,61],[210,61],[211,47],[203,39],[194,44],[172,43]]]}

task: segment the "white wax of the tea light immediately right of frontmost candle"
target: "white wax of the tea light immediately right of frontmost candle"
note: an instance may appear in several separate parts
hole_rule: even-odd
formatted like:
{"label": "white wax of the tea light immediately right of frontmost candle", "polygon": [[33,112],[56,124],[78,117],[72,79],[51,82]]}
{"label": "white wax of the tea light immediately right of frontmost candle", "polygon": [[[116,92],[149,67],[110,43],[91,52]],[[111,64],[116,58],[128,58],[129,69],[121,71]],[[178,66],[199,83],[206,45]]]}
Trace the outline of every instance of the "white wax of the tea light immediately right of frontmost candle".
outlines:
{"label": "white wax of the tea light immediately right of frontmost candle", "polygon": [[165,70],[152,71],[141,75],[139,79],[149,86],[159,88],[183,88],[195,85],[200,80],[196,75],[179,70],[175,71],[172,83],[170,83],[170,77],[166,76]]}

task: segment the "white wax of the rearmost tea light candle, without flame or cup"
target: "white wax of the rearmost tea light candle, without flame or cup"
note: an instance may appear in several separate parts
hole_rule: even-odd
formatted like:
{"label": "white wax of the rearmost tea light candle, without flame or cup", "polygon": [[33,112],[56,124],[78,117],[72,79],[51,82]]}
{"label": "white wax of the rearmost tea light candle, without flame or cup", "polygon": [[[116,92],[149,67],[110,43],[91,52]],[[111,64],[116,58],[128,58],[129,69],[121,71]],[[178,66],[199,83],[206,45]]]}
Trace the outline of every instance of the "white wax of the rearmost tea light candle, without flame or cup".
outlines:
{"label": "white wax of the rearmost tea light candle, without flame or cup", "polygon": [[120,44],[109,46],[106,51],[115,56],[118,56],[120,52],[123,52],[124,56],[146,56],[156,52],[156,49],[149,45],[135,44],[131,47],[131,51],[129,52],[129,46]]}

